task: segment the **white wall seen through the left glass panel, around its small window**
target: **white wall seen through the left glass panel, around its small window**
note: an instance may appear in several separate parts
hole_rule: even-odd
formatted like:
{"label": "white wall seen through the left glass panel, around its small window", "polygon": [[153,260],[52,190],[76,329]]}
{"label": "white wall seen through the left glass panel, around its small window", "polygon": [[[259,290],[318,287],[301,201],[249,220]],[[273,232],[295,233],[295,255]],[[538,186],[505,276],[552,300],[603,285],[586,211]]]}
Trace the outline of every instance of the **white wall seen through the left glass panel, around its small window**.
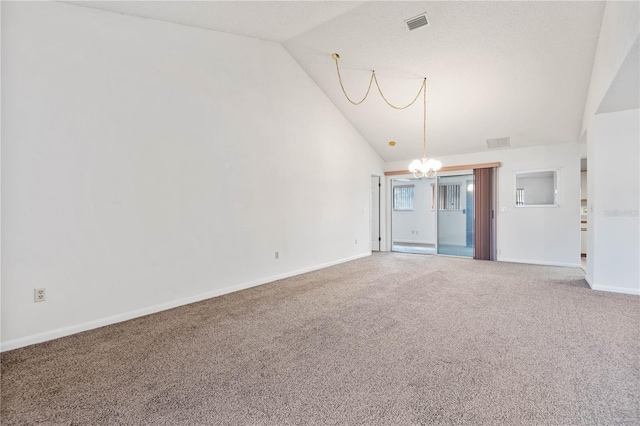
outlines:
{"label": "white wall seen through the left glass panel, around its small window", "polygon": [[[403,243],[435,244],[436,213],[431,209],[431,185],[435,179],[393,181],[393,186],[414,185],[414,210],[393,211],[393,241]],[[393,206],[391,191],[390,206]]]}

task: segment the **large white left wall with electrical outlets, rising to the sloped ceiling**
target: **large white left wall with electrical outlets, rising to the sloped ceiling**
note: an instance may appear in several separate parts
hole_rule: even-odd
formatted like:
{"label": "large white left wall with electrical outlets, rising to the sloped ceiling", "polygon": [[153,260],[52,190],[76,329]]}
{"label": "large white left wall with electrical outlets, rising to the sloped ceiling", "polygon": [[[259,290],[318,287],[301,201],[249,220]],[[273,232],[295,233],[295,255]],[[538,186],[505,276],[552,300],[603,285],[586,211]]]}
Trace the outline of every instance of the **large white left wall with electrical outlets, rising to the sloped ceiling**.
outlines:
{"label": "large white left wall with electrical outlets, rising to the sloped ceiling", "polygon": [[369,254],[383,163],[279,44],[3,2],[2,86],[3,350]]}

